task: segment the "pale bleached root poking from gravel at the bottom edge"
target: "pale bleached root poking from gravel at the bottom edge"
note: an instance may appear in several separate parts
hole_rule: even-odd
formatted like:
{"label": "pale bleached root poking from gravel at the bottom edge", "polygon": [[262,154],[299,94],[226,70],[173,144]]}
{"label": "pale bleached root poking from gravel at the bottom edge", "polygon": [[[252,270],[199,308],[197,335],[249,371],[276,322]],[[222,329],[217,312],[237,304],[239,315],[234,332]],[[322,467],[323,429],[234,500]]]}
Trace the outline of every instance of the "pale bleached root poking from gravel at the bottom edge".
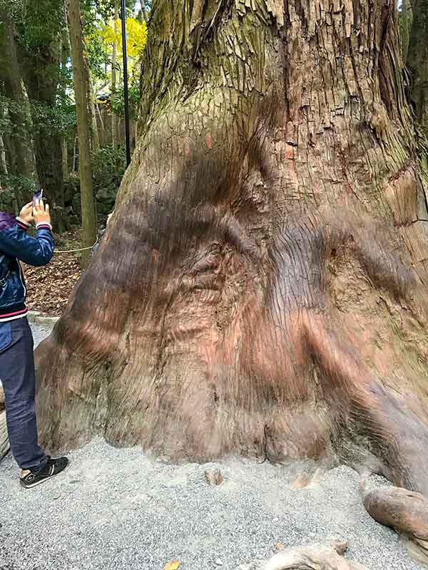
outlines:
{"label": "pale bleached root poking from gravel at the bottom edge", "polygon": [[287,548],[267,561],[241,564],[236,570],[366,570],[365,566],[343,557],[347,542],[332,540],[329,546],[312,544]]}

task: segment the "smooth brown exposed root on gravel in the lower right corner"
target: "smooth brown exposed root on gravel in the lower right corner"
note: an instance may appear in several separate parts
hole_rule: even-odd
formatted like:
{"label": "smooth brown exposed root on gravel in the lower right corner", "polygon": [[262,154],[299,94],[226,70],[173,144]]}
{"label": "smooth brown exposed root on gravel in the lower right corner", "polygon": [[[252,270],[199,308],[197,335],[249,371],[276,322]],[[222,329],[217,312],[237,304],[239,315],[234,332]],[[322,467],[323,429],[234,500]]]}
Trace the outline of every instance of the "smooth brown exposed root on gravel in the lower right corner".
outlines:
{"label": "smooth brown exposed root on gravel in the lower right corner", "polygon": [[370,517],[392,527],[404,539],[410,554],[428,564],[428,499],[401,487],[363,490],[362,496]]}

